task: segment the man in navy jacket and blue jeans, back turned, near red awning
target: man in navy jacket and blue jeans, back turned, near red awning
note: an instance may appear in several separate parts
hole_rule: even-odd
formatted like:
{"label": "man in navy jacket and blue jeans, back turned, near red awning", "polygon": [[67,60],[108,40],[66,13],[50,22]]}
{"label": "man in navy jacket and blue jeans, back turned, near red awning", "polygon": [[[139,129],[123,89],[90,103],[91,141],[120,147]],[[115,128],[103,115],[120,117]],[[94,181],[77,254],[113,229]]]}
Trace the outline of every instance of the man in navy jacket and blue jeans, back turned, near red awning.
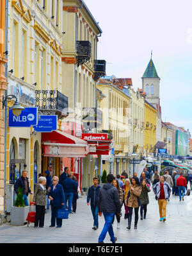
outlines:
{"label": "man in navy jacket and blue jeans, back turned, near red awning", "polygon": [[72,201],[74,198],[74,193],[77,192],[78,184],[72,180],[72,175],[67,175],[67,179],[63,180],[63,191],[65,194],[65,205],[64,208],[67,208],[67,200],[68,200],[68,213],[72,213]]}

